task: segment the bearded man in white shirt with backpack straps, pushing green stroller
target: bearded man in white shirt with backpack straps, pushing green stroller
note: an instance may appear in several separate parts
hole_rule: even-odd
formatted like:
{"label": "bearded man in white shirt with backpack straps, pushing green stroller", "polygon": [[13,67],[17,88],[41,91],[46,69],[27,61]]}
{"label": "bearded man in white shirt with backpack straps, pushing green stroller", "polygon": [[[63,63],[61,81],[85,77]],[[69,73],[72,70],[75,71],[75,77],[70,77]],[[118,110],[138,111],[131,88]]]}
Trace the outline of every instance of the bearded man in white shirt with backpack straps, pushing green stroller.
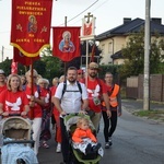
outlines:
{"label": "bearded man in white shirt with backpack straps, pushing green stroller", "polygon": [[[61,152],[63,156],[63,164],[71,164],[69,138],[67,134],[66,126],[63,124],[63,116],[67,114],[81,113],[85,114],[87,108],[87,92],[83,83],[77,81],[78,70],[74,67],[68,68],[67,81],[61,82],[55,93],[52,102],[60,113],[61,126]],[[81,92],[79,84],[81,85]],[[67,85],[63,93],[63,86]],[[61,163],[62,164],[62,163]]]}

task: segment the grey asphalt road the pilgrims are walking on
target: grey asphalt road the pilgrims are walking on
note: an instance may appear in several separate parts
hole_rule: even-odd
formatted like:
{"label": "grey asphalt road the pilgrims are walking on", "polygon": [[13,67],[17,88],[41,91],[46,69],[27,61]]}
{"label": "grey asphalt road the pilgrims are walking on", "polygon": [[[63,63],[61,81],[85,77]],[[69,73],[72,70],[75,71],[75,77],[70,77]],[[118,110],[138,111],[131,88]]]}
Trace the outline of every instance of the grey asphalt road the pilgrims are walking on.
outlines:
{"label": "grey asphalt road the pilgrims are walking on", "polygon": [[[134,104],[137,103],[137,104]],[[163,107],[163,106],[161,106]],[[101,164],[164,164],[164,124],[132,116],[128,110],[142,108],[142,103],[122,102],[122,116],[113,136],[113,145],[105,151]],[[103,121],[98,141],[104,147]],[[40,148],[39,164],[59,164],[61,153],[56,153],[54,139],[50,148]]]}

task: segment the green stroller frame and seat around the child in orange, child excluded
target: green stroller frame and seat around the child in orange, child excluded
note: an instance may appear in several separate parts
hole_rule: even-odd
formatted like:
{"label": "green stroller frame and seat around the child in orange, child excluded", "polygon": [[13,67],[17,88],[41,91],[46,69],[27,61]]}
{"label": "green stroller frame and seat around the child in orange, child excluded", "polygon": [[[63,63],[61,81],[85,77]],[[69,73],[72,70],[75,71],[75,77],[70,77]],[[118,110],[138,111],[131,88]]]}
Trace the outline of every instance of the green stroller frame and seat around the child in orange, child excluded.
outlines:
{"label": "green stroller frame and seat around the child in orange, child excluded", "polygon": [[[74,132],[77,128],[78,119],[81,117],[81,114],[69,114],[65,116],[65,125],[68,132],[68,138],[70,142],[70,159],[72,159],[73,164],[98,164],[102,156],[98,153],[93,154],[84,154],[80,152],[78,149],[74,149],[72,145],[72,133]],[[86,117],[90,121],[90,127],[93,131],[93,133],[96,136],[95,128],[90,120],[90,116],[84,115],[83,117]]]}

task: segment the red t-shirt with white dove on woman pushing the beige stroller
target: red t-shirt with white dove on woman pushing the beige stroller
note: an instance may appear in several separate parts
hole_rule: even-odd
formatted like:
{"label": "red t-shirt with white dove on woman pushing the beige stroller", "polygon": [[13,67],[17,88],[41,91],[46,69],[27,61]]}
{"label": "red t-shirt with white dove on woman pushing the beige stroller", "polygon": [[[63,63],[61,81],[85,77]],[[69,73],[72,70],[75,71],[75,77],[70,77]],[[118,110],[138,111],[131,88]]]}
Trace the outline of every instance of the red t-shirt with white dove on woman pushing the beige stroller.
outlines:
{"label": "red t-shirt with white dove on woman pushing the beige stroller", "polygon": [[5,90],[0,94],[0,103],[3,104],[3,112],[21,114],[24,110],[24,106],[28,105],[28,99],[23,91],[13,93]]}

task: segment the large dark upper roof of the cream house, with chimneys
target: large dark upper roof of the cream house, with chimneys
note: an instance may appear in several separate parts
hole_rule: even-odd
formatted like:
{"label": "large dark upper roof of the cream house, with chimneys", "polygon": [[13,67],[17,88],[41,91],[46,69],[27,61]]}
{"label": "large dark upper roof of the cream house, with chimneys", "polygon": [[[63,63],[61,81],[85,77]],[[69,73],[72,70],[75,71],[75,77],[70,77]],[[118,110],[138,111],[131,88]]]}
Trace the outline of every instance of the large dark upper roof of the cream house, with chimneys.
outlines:
{"label": "large dark upper roof of the cream house, with chimneys", "polygon": [[[124,24],[97,35],[95,39],[103,40],[117,35],[129,35],[129,33],[138,33],[141,26],[144,26],[144,20],[137,17],[131,21],[131,19],[127,19]],[[152,34],[159,32],[161,35],[164,35],[164,25],[161,24],[161,19],[152,19],[150,26]]]}

